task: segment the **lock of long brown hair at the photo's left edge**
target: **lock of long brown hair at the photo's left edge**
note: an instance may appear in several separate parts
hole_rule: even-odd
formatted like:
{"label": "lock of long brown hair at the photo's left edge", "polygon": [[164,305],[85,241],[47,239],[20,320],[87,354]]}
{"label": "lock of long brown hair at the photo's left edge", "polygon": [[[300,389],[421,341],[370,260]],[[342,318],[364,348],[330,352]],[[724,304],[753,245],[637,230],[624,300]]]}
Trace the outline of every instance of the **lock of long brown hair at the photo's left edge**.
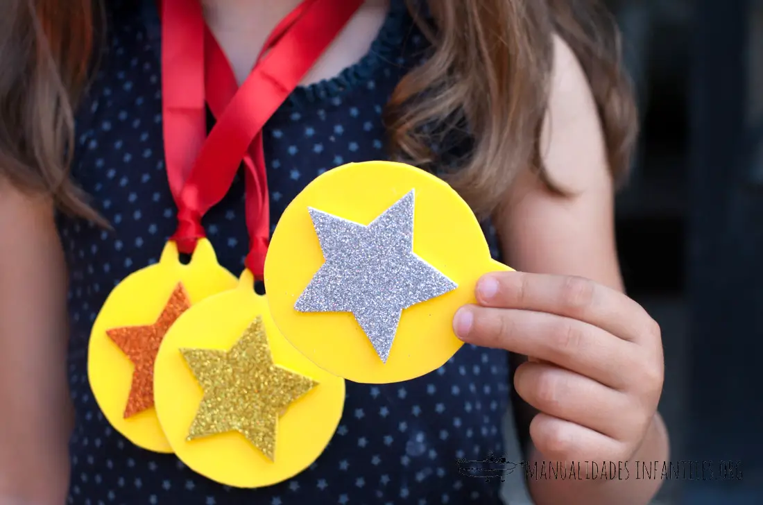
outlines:
{"label": "lock of long brown hair at the photo's left edge", "polygon": [[91,62],[91,0],[6,0],[0,18],[0,183],[102,223],[69,179],[76,98]]}

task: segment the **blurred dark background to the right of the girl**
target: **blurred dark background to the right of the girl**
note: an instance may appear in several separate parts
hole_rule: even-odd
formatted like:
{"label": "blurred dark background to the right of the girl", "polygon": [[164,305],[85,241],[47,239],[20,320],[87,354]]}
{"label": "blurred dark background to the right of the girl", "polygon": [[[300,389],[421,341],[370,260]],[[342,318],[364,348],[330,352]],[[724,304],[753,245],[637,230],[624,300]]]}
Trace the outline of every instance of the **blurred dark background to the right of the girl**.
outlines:
{"label": "blurred dark background to the right of the girl", "polygon": [[662,326],[671,462],[714,473],[664,481],[655,505],[761,505],[763,0],[607,3],[642,116],[620,262]]}

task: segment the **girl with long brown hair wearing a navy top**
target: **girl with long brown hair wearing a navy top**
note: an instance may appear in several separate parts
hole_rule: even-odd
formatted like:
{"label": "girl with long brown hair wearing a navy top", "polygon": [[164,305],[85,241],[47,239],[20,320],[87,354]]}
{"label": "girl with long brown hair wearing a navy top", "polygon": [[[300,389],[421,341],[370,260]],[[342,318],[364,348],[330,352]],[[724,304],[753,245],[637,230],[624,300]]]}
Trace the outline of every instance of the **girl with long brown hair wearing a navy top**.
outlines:
{"label": "girl with long brown hair wearing a navy top", "polygon": [[[631,462],[615,480],[532,478],[536,503],[649,502],[658,481],[636,480],[635,466],[667,458],[662,344],[621,293],[613,181],[635,115],[594,2],[366,0],[266,124],[271,224],[324,169],[394,156],[446,177],[494,254],[527,273],[481,280],[479,304],[453,321],[470,345],[436,372],[347,384],[324,454],[256,491],[130,444],[87,381],[98,308],[156,262],[175,224],[156,3],[5,3],[0,502],[500,503],[500,484],[459,474],[456,458],[501,454],[510,401],[530,462]],[[201,3],[240,84],[300,2]],[[243,187],[204,223],[231,272],[246,255]]]}

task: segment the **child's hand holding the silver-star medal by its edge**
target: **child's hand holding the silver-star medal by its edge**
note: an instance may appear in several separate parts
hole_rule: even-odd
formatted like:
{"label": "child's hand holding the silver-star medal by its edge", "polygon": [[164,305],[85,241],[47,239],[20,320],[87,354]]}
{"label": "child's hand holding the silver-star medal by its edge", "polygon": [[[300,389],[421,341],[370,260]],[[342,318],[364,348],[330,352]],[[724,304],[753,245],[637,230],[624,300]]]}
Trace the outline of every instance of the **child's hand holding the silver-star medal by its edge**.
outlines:
{"label": "child's hand holding the silver-star medal by its edge", "polygon": [[536,449],[555,461],[626,461],[662,392],[657,323],[625,294],[577,277],[502,272],[477,286],[456,334],[477,346],[532,356],[514,387],[540,411]]}

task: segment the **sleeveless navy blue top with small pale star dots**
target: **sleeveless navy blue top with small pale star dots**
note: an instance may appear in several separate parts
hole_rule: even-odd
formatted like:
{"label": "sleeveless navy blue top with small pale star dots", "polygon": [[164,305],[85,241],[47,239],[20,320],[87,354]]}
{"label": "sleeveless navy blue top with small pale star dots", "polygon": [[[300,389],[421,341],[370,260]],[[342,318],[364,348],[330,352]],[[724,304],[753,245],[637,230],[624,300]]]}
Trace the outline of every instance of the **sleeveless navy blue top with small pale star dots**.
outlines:
{"label": "sleeveless navy blue top with small pale star dots", "polygon": [[[156,262],[175,230],[164,166],[159,20],[153,2],[111,0],[108,40],[77,115],[72,175],[113,231],[69,217],[69,383],[76,406],[69,503],[501,503],[500,482],[459,473],[456,458],[502,454],[506,352],[464,346],[446,365],[399,384],[347,383],[340,426],[301,474],[272,487],[230,488],[174,455],[139,449],[112,429],[90,390],[87,346],[99,308],[124,277]],[[265,129],[272,226],[315,176],[385,159],[381,109],[427,42],[392,2],[369,53],[339,76],[297,88]],[[218,259],[243,269],[243,179],[204,219]],[[492,233],[488,233],[492,240]]]}

